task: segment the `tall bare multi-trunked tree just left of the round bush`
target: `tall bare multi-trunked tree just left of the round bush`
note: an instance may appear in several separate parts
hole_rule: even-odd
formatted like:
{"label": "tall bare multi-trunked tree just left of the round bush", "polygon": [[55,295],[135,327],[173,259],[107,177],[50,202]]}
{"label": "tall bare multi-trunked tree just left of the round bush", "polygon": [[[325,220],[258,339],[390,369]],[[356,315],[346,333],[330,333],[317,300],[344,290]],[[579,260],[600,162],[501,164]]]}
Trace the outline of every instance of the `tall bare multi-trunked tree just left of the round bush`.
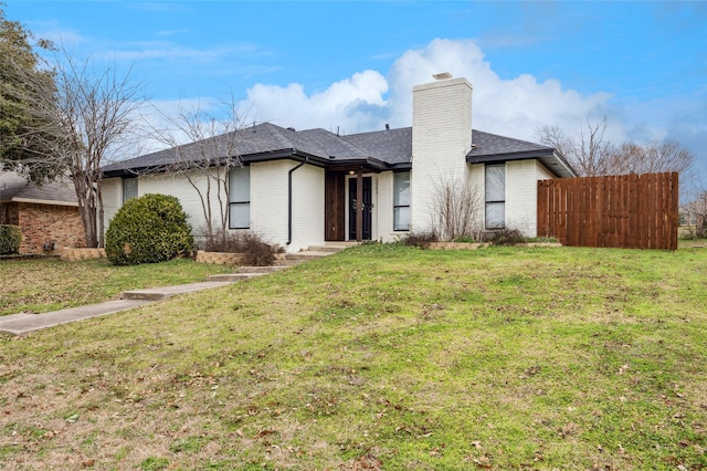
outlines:
{"label": "tall bare multi-trunked tree just left of the round bush", "polygon": [[[55,142],[52,155],[44,161],[65,169],[74,184],[86,245],[103,245],[103,198],[101,167],[131,146],[139,111],[145,103],[140,84],[116,66],[92,67],[88,60],[76,62],[63,51],[55,66],[55,106],[38,113],[46,114],[63,138]],[[49,104],[49,97],[38,106]],[[50,133],[51,134],[51,133]]]}

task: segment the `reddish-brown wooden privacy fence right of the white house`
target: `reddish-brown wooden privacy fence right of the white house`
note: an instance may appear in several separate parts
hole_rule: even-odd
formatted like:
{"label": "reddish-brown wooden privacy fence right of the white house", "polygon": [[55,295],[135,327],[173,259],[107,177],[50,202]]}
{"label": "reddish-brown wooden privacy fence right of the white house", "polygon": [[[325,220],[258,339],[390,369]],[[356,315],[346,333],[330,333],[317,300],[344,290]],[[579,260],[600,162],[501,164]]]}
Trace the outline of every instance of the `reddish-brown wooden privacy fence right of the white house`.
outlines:
{"label": "reddish-brown wooden privacy fence right of the white house", "polygon": [[538,181],[538,237],[571,247],[677,249],[677,172]]}

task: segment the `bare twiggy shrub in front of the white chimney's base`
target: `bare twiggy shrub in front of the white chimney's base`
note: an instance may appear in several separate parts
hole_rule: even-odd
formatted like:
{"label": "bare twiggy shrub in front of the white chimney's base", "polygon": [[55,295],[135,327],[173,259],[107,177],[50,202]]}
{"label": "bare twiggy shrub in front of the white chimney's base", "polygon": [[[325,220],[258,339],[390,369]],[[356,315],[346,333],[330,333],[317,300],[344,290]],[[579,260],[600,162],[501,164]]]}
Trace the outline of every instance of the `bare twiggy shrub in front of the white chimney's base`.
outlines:
{"label": "bare twiggy shrub in front of the white chimney's base", "polygon": [[484,198],[469,177],[450,175],[435,181],[430,205],[434,230],[442,240],[464,236],[481,239]]}

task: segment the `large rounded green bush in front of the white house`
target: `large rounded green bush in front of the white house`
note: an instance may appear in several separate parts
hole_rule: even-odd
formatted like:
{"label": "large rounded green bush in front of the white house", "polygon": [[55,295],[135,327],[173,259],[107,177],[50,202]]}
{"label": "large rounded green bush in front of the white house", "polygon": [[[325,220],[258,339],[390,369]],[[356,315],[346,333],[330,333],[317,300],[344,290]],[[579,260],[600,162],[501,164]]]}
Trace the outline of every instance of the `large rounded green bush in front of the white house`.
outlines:
{"label": "large rounded green bush in front of the white house", "polygon": [[167,195],[127,200],[106,231],[106,257],[115,265],[163,262],[189,255],[192,247],[187,214]]}

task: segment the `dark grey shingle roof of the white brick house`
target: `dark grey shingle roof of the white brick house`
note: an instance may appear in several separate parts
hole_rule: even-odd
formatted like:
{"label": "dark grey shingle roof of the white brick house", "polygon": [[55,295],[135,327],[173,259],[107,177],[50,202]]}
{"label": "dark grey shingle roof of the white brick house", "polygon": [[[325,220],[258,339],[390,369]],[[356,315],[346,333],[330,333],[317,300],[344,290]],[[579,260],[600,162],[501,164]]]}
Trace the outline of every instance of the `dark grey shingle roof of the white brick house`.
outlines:
{"label": "dark grey shingle roof of the white brick house", "polygon": [[[556,168],[551,168],[552,171],[557,174],[556,169],[559,169],[560,174],[557,175],[561,176],[573,174],[567,170],[569,166],[552,148],[481,130],[473,132],[473,139],[476,147],[466,156],[469,163],[521,158],[541,158],[544,163],[551,163],[559,158],[562,165],[556,165]],[[200,148],[204,146],[211,146],[210,155],[213,155],[213,146],[224,155],[229,142],[236,143],[238,151],[245,163],[306,155],[320,166],[361,160],[384,169],[409,167],[412,160],[412,127],[339,136],[321,128],[294,130],[263,123],[201,143],[186,144],[113,164],[103,170],[106,176],[119,176],[129,174],[130,170],[137,172],[146,168],[165,167],[175,163],[178,151],[181,154],[180,158],[186,156],[199,159]]]}

